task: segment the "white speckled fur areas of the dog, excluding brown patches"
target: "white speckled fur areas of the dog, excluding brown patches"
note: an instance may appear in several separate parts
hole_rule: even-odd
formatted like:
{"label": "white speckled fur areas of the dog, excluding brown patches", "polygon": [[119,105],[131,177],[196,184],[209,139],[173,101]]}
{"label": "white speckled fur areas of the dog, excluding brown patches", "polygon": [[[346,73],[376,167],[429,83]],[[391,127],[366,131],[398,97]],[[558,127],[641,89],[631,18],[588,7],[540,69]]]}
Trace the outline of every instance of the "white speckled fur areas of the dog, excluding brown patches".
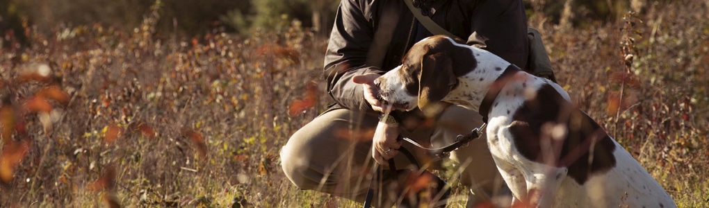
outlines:
{"label": "white speckled fur areas of the dog, excluding brown patches", "polygon": [[[479,110],[489,86],[503,72],[495,69],[506,69],[510,63],[484,50],[459,44],[457,47],[470,48],[478,64],[476,69],[457,78],[459,85],[442,101]],[[380,79],[386,79],[386,86],[380,87],[383,91],[390,91],[391,96],[386,98],[389,102],[407,103],[409,108],[406,110],[411,110],[416,107],[418,98],[417,95],[407,93],[404,88],[406,83],[401,83],[403,79],[396,77],[400,68],[381,76]],[[532,203],[537,204],[537,207],[676,207],[657,181],[615,141],[615,167],[605,173],[590,175],[584,185],[566,177],[567,168],[558,168],[552,163],[538,163],[522,156],[515,148],[515,139],[508,129],[512,122],[508,110],[520,108],[527,96],[535,96],[535,92],[545,84],[554,86],[563,98],[570,100],[568,93],[556,83],[519,71],[501,89],[493,102],[498,105],[493,105],[489,112],[486,129],[489,148],[498,170],[516,199],[524,202],[535,197],[538,200]],[[542,152],[547,154],[543,158],[556,158],[554,151],[542,149]],[[540,190],[537,192],[539,195],[528,196],[532,189]]]}

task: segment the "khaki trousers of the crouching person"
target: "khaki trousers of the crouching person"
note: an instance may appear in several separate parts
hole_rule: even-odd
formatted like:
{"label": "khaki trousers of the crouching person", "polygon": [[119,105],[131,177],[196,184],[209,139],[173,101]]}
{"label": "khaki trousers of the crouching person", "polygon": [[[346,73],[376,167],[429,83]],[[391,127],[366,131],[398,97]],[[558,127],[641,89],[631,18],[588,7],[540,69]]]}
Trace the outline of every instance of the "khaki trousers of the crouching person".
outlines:
{"label": "khaki trousers of the crouching person", "polygon": [[[401,130],[403,137],[432,146],[452,144],[458,134],[467,134],[482,124],[481,116],[455,105],[446,108],[432,127],[419,127],[413,132]],[[372,159],[372,135],[377,118],[351,110],[325,112],[299,129],[281,150],[281,166],[294,185],[303,190],[318,190],[357,202],[364,202],[369,189]],[[419,163],[430,161],[424,151],[403,142]],[[474,194],[468,204],[489,200],[501,187],[501,176],[486,144],[486,137],[474,139],[468,146],[453,151],[451,159],[464,168],[460,182]],[[395,158],[397,169],[411,164],[403,154]],[[421,164],[423,165],[423,164]],[[390,179],[391,180],[391,179]],[[392,181],[384,181],[383,187]],[[374,200],[379,200],[374,195]],[[391,202],[390,196],[382,197]]]}

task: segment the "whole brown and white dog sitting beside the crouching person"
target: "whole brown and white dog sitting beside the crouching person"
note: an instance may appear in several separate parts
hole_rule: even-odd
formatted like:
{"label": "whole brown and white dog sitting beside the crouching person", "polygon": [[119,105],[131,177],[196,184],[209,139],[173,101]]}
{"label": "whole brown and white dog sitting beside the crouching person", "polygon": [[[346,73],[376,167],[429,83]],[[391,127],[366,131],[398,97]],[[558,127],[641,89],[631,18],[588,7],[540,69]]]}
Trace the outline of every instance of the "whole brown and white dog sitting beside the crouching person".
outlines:
{"label": "whole brown and white dog sitting beside the crouching person", "polygon": [[439,101],[489,117],[486,134],[515,202],[532,207],[676,207],[559,85],[449,37],[416,43],[374,82],[398,110]]}

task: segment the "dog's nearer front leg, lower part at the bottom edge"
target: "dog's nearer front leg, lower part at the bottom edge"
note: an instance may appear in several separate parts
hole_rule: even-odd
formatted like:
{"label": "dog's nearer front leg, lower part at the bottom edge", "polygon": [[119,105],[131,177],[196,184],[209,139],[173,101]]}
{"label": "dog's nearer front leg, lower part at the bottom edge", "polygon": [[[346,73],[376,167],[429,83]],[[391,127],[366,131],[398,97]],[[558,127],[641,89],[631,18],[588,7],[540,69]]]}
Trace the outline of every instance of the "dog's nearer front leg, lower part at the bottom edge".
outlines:
{"label": "dog's nearer front leg, lower part at the bottom edge", "polygon": [[531,207],[552,207],[559,185],[562,184],[567,168],[557,168],[536,164],[535,170],[525,170],[527,179],[527,203]]}

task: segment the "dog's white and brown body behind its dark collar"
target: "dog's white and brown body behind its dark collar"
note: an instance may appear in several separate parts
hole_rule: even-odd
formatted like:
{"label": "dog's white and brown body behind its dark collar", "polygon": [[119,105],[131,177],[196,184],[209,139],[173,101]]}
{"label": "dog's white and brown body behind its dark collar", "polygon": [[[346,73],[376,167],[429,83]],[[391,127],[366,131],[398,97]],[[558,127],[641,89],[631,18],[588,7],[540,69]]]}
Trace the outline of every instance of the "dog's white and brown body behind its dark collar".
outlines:
{"label": "dog's white and brown body behind its dark collar", "polygon": [[541,207],[676,207],[560,86],[515,76],[492,104],[488,128],[496,134],[489,137],[493,156],[516,195]]}

